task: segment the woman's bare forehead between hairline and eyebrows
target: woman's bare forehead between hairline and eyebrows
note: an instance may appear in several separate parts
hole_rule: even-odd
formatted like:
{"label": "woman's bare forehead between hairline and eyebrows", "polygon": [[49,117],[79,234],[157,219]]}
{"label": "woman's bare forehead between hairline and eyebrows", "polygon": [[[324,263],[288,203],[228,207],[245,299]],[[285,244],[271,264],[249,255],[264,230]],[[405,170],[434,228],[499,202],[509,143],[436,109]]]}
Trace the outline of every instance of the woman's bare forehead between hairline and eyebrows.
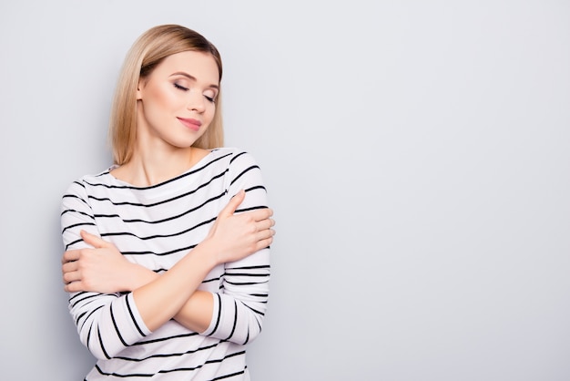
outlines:
{"label": "woman's bare forehead between hairline and eyebrows", "polygon": [[219,84],[219,70],[216,60],[205,52],[187,51],[173,54],[162,60],[154,73],[170,76],[174,73],[186,73],[198,81]]}

